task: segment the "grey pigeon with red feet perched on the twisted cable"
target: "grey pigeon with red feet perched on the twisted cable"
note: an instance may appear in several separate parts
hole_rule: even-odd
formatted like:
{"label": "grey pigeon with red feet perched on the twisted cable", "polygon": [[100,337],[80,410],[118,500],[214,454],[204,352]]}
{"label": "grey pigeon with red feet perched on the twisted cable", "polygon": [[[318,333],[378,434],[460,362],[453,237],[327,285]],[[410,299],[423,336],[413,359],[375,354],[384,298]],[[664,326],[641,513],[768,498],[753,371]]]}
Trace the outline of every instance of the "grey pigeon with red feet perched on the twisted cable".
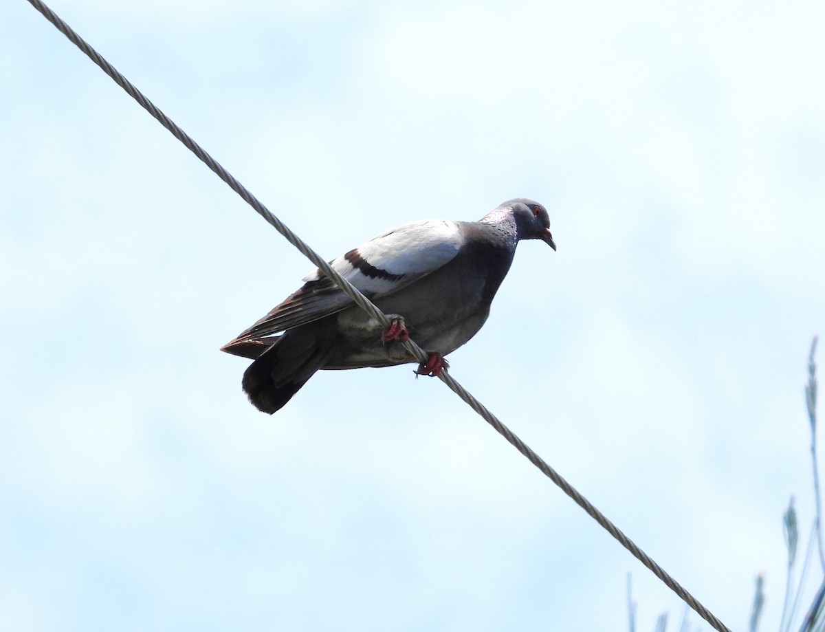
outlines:
{"label": "grey pigeon with red feet perched on the twisted cable", "polygon": [[[405,364],[409,337],[427,351],[417,375],[440,375],[444,359],[487,320],[521,239],[556,249],[544,206],[509,200],[478,222],[424,219],[376,237],[330,262],[387,314],[384,328],[321,271],[221,347],[253,360],[243,390],[264,413],[290,401],[317,370]],[[277,335],[280,334],[280,335]]]}

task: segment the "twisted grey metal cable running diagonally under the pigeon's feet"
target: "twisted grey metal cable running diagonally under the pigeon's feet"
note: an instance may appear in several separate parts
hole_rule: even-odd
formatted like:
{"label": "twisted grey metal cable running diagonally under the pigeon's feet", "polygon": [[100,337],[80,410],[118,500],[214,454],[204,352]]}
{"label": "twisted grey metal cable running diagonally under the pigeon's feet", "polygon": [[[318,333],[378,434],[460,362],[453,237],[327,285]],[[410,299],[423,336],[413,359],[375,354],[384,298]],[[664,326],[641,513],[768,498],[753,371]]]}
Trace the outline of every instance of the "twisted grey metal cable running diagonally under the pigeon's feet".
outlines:
{"label": "twisted grey metal cable running diagonally under the pigeon's feet", "polygon": [[[279,233],[281,233],[281,235],[283,235],[289,243],[295,246],[295,248],[298,248],[299,252],[309,258],[314,265],[318,266],[324,275],[331,278],[332,281],[335,281],[335,283],[341,287],[341,289],[353,300],[353,302],[355,302],[361,309],[364,309],[364,311],[369,314],[371,318],[375,318],[377,322],[383,324],[385,327],[389,327],[389,318],[387,318],[387,316],[381,312],[375,304],[372,304],[372,302],[362,295],[354,285],[338,274],[337,271],[333,270],[332,267],[330,267],[329,264],[324,261],[317,252],[314,252],[312,248],[309,248],[309,246],[304,243],[298,235],[293,233],[283,222],[281,222],[280,219],[278,219],[275,215],[272,215],[271,211],[268,210],[266,206],[257,199],[257,197],[253,196],[250,191],[247,191],[245,186],[238,182],[238,180],[235,179],[231,173],[226,171],[224,167],[221,167],[209,153],[206,153],[206,151],[201,148],[199,144],[191,139],[186,132],[181,130],[181,128],[178,127],[168,116],[163,114],[163,111],[155,106],[152,101],[149,101],[147,97],[144,97],[143,93],[134,87],[134,85],[130,83],[130,81],[122,74],[120,74],[114,66],[109,64],[106,59],[103,59],[101,54],[99,54],[97,50],[94,50],[91,45],[83,40],[78,33],[73,31],[73,29],[68,26],[66,22],[60,19],[60,17],[43,2],[41,2],[41,0],[28,0],[28,2],[30,2],[31,5],[37,9],[37,11],[43,14],[43,16],[50,21],[58,29],[58,31],[66,35],[66,37],[68,37],[74,45],[82,50],[84,54],[87,54],[87,56],[92,59],[95,64],[100,66],[103,72],[109,75],[115,83],[122,87],[125,92],[130,95],[130,97],[134,98],[135,101],[138,101],[140,106],[144,107],[144,109],[148,111],[148,113],[155,119],[157,119],[163,127],[169,130],[175,138],[186,145],[187,149],[190,149],[190,151],[200,158],[200,160],[203,161],[207,167],[210,167],[210,169],[215,172],[221,180],[226,182],[233,191],[238,193],[238,195],[241,196],[248,205],[252,206],[252,208],[256,210],[257,213],[263,217],[263,219],[266,219],[266,221]],[[421,347],[418,347],[415,342],[408,341],[405,342],[404,345],[408,351],[413,353],[413,356],[415,356],[418,361],[427,361],[427,353],[423,351]],[[712,625],[715,630],[719,630],[719,632],[731,632],[727,626],[725,626],[713,615],[712,612],[705,608],[705,606],[702,606],[702,604],[697,601],[690,592],[687,592],[679,582],[676,582],[676,580],[672,578],[664,570],[664,568],[654,562],[648,554],[640,549],[639,546],[635,545],[627,535],[620,531],[620,529],[615,526],[613,522],[608,520],[607,516],[596,509],[596,507],[594,507],[592,503],[587,500],[587,498],[584,498],[581,493],[577,492],[576,488],[573,488],[567,480],[563,479],[558,472],[556,472],[539,455],[531,450],[530,446],[527,446],[524,441],[521,441],[521,439],[507,426],[505,426],[495,415],[493,415],[488,408],[484,407],[484,405],[479,402],[478,399],[475,399],[472,394],[469,394],[469,392],[464,389],[461,384],[453,380],[448,371],[442,371],[439,377],[441,377],[441,381],[449,386],[450,389],[455,391],[455,394],[458,394],[464,402],[468,403],[476,413],[479,413],[479,415],[481,415],[486,422],[493,426],[499,434],[507,439],[507,441],[509,441],[512,446],[516,448],[516,450],[521,452],[522,455],[525,455],[526,458],[530,460],[530,463],[540,469],[545,476],[556,483],[556,485],[558,485],[559,488],[561,488],[562,491],[570,498],[573,498],[573,501],[576,502],[579,507],[582,507],[585,512],[592,516],[592,518],[604,527],[606,531],[616,540],[619,540],[620,544],[624,546],[625,549],[628,549],[636,559],[639,559],[642,564],[649,568],[650,571],[656,575],[656,577],[661,579],[662,582],[667,585],[667,587],[669,587],[673,592],[676,592],[676,595],[681,597],[681,599],[685,601],[688,606],[691,606],[691,608],[693,608],[697,614]]]}

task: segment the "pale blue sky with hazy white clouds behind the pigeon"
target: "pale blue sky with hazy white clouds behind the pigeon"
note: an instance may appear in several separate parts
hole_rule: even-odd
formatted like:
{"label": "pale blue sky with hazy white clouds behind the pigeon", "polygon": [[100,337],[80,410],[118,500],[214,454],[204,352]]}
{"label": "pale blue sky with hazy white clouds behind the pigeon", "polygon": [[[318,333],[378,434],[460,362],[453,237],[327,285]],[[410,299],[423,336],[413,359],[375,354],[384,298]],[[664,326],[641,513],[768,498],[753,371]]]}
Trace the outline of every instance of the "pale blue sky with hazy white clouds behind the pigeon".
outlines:
{"label": "pale blue sky with hazy white clouds behind the pigeon", "polygon": [[[733,630],[761,573],[778,630],[782,514],[805,545],[815,515],[821,2],[50,7],[328,259],[543,203],[558,252],[521,244],[450,374]],[[311,264],[2,13],[2,630],[628,630],[629,574],[637,630],[680,629],[440,380],[323,371],[252,408],[218,349]]]}

